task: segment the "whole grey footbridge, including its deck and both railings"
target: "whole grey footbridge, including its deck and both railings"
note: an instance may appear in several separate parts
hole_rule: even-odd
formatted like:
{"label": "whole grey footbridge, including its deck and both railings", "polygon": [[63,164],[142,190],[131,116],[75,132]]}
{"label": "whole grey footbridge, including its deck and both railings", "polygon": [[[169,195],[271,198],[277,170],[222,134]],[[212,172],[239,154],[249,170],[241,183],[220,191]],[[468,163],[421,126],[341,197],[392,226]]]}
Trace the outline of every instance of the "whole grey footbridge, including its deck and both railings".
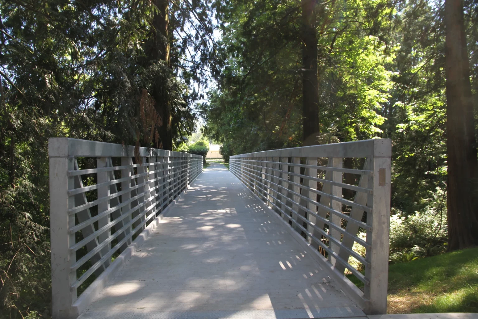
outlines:
{"label": "whole grey footbridge, including its deck and both railings", "polygon": [[54,319],[386,312],[388,139],[240,154],[229,170],[68,138],[49,156]]}

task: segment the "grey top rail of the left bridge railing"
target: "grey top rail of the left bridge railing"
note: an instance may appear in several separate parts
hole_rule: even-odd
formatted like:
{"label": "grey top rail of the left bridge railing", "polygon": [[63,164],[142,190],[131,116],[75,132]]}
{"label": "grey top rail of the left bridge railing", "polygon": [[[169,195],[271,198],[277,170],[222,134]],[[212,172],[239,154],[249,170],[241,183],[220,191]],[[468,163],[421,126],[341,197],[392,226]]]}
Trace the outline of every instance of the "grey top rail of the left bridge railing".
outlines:
{"label": "grey top rail of the left bridge railing", "polygon": [[[52,137],[48,140],[48,155],[50,157],[132,157],[135,154],[134,146],[130,145],[85,141],[67,137]],[[202,158],[201,155],[147,147],[140,147],[139,155]]]}

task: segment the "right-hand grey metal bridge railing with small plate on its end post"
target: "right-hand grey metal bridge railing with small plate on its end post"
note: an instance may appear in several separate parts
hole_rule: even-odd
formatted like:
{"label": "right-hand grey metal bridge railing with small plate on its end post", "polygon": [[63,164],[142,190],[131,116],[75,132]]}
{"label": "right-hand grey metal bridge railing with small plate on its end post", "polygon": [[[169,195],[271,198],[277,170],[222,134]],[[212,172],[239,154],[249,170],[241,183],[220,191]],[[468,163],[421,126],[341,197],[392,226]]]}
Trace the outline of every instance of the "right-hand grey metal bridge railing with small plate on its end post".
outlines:
{"label": "right-hand grey metal bridge railing with small plate on its end post", "polygon": [[229,163],[349,297],[368,314],[386,313],[391,140],[240,154]]}

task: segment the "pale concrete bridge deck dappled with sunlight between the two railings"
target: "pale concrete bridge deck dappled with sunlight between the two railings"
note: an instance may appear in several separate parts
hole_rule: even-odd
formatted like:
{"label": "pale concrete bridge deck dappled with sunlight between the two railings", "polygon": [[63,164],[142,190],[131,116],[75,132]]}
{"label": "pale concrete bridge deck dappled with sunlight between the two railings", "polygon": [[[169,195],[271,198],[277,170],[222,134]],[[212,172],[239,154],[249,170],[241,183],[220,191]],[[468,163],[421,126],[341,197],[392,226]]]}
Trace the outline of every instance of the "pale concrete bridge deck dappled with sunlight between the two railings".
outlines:
{"label": "pale concrete bridge deck dappled with sunlight between the two railings", "polygon": [[365,316],[273,213],[209,166],[79,318]]}

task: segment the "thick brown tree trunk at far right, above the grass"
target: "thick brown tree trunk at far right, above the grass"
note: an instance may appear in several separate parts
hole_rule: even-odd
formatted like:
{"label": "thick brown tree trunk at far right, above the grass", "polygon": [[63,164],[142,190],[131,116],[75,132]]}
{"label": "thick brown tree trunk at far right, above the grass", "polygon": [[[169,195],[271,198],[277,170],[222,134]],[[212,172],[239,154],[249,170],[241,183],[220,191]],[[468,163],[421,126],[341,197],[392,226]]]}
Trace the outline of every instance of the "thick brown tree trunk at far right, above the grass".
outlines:
{"label": "thick brown tree trunk at far right, above the grass", "polygon": [[445,0],[448,250],[478,244],[477,149],[462,0]]}

